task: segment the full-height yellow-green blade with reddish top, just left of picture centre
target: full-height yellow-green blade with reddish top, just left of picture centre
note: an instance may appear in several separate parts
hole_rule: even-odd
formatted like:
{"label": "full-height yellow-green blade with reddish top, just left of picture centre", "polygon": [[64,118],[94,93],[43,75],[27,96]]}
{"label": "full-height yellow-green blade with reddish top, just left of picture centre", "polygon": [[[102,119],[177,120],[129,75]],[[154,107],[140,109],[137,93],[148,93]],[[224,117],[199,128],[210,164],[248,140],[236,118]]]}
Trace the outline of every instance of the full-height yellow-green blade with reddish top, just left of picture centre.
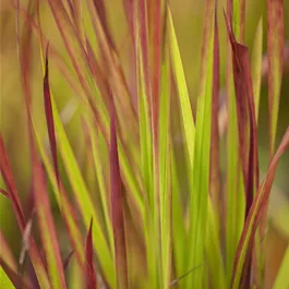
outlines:
{"label": "full-height yellow-green blade with reddish top, just left of picture centre", "polygon": [[[149,51],[148,51],[148,23],[147,8],[144,0],[133,3],[133,41],[136,63],[136,82],[139,95],[139,119],[140,119],[140,148],[141,168],[144,182],[145,197],[148,202],[148,212],[145,212],[145,239],[146,262],[148,269],[149,287],[156,289],[160,281],[160,231],[159,231],[159,207],[156,203],[158,191],[157,153],[156,139],[153,131],[152,119],[152,80],[149,77]],[[155,142],[155,143],[153,143]],[[154,161],[155,160],[155,161]],[[148,214],[149,213],[149,214]]]}

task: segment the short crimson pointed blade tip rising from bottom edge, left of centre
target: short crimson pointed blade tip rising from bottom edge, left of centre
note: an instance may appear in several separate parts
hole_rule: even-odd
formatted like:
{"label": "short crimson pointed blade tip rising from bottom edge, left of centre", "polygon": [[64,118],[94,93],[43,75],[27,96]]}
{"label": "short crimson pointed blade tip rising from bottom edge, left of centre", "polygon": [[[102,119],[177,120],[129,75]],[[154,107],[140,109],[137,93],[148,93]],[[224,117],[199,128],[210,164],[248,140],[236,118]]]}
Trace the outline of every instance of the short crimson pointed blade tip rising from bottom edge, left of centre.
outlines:
{"label": "short crimson pointed blade tip rising from bottom edge, left of centre", "polygon": [[97,289],[96,273],[94,267],[94,249],[93,249],[93,219],[91,220],[89,230],[86,237],[86,286],[87,289]]}

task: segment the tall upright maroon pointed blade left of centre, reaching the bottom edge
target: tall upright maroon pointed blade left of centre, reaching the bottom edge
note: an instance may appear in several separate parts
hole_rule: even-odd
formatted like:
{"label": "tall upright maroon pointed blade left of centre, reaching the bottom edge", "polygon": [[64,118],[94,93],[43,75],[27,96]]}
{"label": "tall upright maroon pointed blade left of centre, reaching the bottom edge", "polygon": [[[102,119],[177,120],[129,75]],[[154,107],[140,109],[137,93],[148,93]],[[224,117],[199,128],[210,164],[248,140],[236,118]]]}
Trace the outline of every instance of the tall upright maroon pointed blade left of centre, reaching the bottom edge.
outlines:
{"label": "tall upright maroon pointed blade left of centre, reaching the bottom edge", "polygon": [[117,269],[117,284],[119,289],[129,288],[128,281],[128,261],[125,248],[124,220],[122,212],[123,195],[121,190],[121,177],[118,155],[118,140],[116,130],[115,105],[111,97],[110,108],[110,190],[111,190],[111,212],[112,229],[115,241],[115,257]]}

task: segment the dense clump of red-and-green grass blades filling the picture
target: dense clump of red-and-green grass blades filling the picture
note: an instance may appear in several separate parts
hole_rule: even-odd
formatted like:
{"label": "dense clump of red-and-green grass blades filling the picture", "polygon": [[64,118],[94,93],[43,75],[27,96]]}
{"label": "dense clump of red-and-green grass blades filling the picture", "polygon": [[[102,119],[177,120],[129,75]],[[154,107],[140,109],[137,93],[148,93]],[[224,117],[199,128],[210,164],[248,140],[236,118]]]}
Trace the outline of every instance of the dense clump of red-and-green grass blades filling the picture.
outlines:
{"label": "dense clump of red-and-green grass blades filling the picture", "polygon": [[[275,147],[284,62],[281,1],[267,1],[269,166],[262,181],[257,146],[262,20],[255,61],[250,63],[243,44],[244,1],[227,1],[227,106],[219,109],[217,1],[205,1],[194,109],[169,2],[122,2],[129,64],[121,60],[105,1],[46,1],[67,60],[41,28],[40,1],[14,4],[33,206],[31,215],[25,215],[1,135],[1,193],[9,198],[23,237],[16,262],[0,231],[1,288],[65,289],[76,282],[77,288],[89,289],[265,288],[261,240],[278,160],[289,146],[288,128]],[[32,104],[32,39],[38,41],[43,64],[45,133]],[[85,169],[68,136],[51,65],[59,70],[75,104]],[[227,115],[225,123],[221,111]],[[221,127],[227,128],[225,134]],[[219,152],[224,137],[225,169]],[[61,238],[70,244],[68,257],[61,253],[53,202],[65,228]],[[274,289],[289,286],[287,256]]]}

